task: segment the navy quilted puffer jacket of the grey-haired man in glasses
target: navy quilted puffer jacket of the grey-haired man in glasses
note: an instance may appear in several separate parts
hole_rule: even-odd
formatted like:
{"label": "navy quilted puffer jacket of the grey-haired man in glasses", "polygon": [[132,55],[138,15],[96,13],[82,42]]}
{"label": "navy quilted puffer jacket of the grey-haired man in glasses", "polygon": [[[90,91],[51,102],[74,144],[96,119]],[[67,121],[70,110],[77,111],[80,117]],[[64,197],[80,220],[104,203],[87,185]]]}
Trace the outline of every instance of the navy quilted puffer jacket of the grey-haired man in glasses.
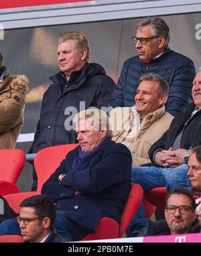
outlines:
{"label": "navy quilted puffer jacket of the grey-haired man in glasses", "polygon": [[131,107],[134,104],[139,78],[149,72],[163,77],[170,87],[165,103],[166,112],[176,116],[186,104],[192,102],[192,81],[196,75],[194,63],[190,58],[167,48],[159,58],[151,60],[149,65],[145,65],[138,55],[126,60],[117,89],[108,105],[113,108]]}

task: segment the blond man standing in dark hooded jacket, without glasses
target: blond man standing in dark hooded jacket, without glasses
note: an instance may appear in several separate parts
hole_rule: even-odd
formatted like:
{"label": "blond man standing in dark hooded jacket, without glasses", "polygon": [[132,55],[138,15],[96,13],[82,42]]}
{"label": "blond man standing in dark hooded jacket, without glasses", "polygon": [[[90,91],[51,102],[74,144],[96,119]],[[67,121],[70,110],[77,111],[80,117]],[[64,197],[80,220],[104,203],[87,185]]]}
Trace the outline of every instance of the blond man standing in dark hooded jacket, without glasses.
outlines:
{"label": "blond man standing in dark hooded jacket, without glasses", "polygon": [[[106,106],[115,89],[115,82],[103,67],[88,62],[90,47],[85,34],[62,34],[58,38],[57,53],[60,72],[50,77],[53,84],[44,93],[29,153],[37,153],[47,146],[76,143],[76,132],[72,128],[75,114],[91,106]],[[35,190],[36,185],[32,189]]]}

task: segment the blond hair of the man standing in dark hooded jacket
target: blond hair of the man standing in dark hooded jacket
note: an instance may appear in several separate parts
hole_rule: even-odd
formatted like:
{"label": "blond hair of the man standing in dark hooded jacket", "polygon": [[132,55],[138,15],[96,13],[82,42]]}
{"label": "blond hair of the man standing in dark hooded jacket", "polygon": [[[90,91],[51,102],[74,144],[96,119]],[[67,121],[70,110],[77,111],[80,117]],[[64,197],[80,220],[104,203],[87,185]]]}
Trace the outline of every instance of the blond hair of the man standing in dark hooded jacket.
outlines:
{"label": "blond hair of the man standing in dark hooded jacket", "polygon": [[86,35],[82,32],[65,32],[58,37],[58,43],[66,42],[68,40],[74,40],[77,50],[86,49],[86,61],[90,60],[90,46]]}

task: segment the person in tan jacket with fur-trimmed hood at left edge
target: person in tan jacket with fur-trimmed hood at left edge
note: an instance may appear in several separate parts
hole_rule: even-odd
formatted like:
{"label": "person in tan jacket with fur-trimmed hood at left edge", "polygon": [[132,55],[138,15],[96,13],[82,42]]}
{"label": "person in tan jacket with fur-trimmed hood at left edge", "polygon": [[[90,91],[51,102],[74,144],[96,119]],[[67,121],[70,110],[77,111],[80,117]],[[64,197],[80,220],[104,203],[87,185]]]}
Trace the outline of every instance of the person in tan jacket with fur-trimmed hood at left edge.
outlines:
{"label": "person in tan jacket with fur-trimmed hood at left edge", "polygon": [[0,52],[0,149],[15,148],[23,126],[25,94],[29,81],[25,75],[9,75]]}

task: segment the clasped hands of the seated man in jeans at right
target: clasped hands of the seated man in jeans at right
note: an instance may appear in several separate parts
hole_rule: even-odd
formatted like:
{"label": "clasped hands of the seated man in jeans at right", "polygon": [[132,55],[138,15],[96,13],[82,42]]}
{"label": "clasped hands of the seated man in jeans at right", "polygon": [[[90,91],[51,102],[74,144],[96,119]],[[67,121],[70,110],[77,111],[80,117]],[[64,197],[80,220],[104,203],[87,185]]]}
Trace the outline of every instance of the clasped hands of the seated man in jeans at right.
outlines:
{"label": "clasped hands of the seated man in jeans at right", "polygon": [[168,151],[159,151],[155,154],[155,162],[162,167],[178,166],[178,159],[175,151],[169,148]]}

